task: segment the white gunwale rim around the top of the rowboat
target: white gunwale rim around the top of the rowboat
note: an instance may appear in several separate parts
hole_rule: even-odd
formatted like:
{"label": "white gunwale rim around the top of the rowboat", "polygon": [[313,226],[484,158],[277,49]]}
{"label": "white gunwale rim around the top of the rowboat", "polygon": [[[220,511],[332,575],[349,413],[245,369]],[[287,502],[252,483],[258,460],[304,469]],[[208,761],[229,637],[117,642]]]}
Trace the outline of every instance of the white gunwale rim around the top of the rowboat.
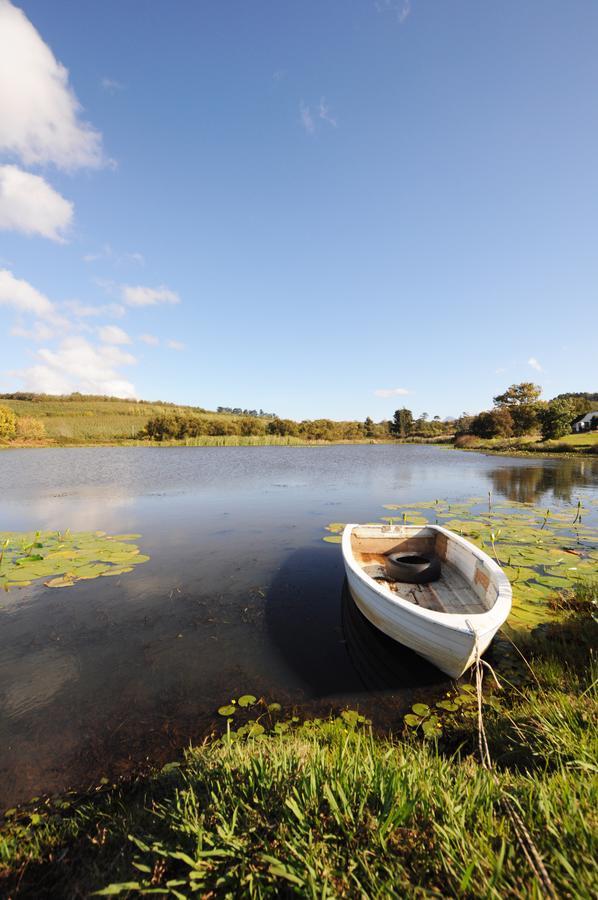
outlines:
{"label": "white gunwale rim around the top of the rowboat", "polygon": [[[355,555],[353,552],[353,546],[351,542],[351,537],[355,529],[364,529],[366,531],[371,531],[380,537],[392,537],[393,533],[399,535],[405,535],[407,531],[409,534],[413,536],[417,536],[422,532],[433,531],[435,533],[443,534],[447,537],[448,540],[455,541],[460,544],[471,556],[477,559],[479,562],[482,562],[489,570],[490,574],[493,577],[494,586],[496,587],[496,599],[490,609],[485,610],[480,613],[456,613],[456,612],[441,612],[437,610],[426,609],[423,606],[417,606],[414,603],[411,603],[409,600],[404,599],[400,595],[393,595],[390,591],[385,591],[383,587],[381,587],[370,575],[368,575],[363,567],[357,562],[355,559]],[[454,631],[461,632],[463,634],[472,634],[472,632],[479,638],[482,638],[488,632],[496,631],[497,627],[503,624],[506,621],[509,612],[511,610],[512,597],[513,592],[511,588],[511,583],[501,567],[496,563],[487,553],[484,553],[483,550],[480,550],[479,547],[476,547],[466,538],[462,537],[459,534],[456,534],[454,531],[451,531],[448,528],[443,528],[442,525],[359,525],[357,523],[350,523],[345,526],[343,530],[342,536],[342,552],[346,565],[350,567],[355,576],[361,579],[365,585],[373,590],[383,601],[389,604],[389,606],[396,606],[401,610],[404,610],[411,615],[428,620],[430,622],[436,622],[438,624],[442,624],[446,627],[450,627]],[[497,624],[498,620],[498,624]],[[484,625],[487,624],[486,628],[483,628]],[[474,627],[477,626],[477,627]],[[482,630],[483,629],[483,630]]]}

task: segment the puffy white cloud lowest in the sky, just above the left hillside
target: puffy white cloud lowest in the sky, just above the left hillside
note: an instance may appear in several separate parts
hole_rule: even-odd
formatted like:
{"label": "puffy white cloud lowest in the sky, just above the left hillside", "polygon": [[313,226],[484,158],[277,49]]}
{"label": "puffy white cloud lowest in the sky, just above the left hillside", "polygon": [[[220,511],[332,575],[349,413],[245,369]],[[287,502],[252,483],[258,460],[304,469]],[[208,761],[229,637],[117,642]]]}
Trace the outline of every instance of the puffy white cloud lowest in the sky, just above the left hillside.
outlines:
{"label": "puffy white cloud lowest in the sky, just above the left hillside", "polygon": [[134,356],[114,346],[95,346],[83,337],[65,338],[58,350],[36,353],[38,362],[11,374],[21,378],[25,389],[48,394],[106,394],[136,397],[135,386],[118,369],[133,365]]}

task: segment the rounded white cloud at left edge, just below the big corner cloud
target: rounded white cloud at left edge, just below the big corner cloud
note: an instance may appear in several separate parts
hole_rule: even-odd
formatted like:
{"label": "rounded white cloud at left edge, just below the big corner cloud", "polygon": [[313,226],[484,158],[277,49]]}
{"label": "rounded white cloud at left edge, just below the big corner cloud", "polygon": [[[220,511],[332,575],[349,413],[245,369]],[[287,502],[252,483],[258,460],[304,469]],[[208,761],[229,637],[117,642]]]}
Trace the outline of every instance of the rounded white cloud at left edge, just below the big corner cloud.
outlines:
{"label": "rounded white cloud at left edge, just below the big corner cloud", "polygon": [[40,175],[0,166],[0,229],[64,243],[72,219],[73,204]]}

